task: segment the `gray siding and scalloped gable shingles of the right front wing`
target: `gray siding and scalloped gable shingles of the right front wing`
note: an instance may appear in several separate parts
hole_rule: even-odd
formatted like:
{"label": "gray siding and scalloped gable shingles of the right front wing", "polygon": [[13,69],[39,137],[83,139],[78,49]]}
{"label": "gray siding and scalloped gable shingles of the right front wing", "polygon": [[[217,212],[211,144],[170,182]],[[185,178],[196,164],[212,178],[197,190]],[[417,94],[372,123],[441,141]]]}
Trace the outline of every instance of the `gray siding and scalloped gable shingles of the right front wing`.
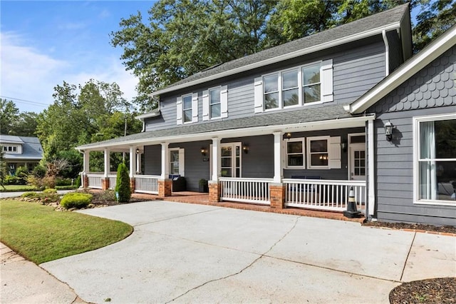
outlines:
{"label": "gray siding and scalloped gable shingles of the right front wing", "polygon": [[[413,117],[456,113],[456,47],[376,103],[376,216],[379,221],[456,226],[456,205],[413,203]],[[384,123],[393,123],[393,141]]]}

